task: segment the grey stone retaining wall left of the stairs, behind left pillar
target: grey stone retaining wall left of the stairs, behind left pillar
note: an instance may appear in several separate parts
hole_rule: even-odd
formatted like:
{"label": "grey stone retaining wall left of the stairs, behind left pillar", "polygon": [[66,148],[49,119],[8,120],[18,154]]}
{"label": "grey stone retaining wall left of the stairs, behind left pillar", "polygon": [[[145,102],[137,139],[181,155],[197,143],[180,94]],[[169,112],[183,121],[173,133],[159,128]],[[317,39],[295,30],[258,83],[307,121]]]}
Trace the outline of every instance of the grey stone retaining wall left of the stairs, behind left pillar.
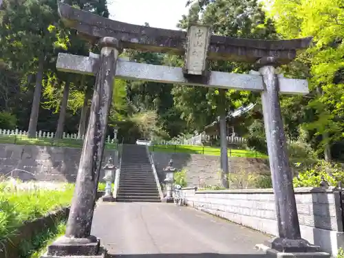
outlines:
{"label": "grey stone retaining wall left of the stairs, behind left pillar", "polygon": [[[21,180],[75,182],[80,154],[79,148],[0,144],[0,176],[12,173]],[[116,150],[105,150],[103,162],[109,155],[116,163]],[[104,175],[102,169],[100,181]]]}

